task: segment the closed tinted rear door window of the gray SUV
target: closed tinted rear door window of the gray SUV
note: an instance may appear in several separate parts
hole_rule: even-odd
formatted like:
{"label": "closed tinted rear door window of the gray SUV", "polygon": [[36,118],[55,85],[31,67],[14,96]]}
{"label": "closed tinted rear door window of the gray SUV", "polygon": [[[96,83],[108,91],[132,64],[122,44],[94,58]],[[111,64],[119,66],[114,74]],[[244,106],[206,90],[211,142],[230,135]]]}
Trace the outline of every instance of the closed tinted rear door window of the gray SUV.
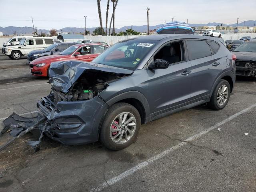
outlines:
{"label": "closed tinted rear door window of the gray SUV", "polygon": [[207,57],[212,54],[209,44],[204,40],[187,40],[190,60]]}

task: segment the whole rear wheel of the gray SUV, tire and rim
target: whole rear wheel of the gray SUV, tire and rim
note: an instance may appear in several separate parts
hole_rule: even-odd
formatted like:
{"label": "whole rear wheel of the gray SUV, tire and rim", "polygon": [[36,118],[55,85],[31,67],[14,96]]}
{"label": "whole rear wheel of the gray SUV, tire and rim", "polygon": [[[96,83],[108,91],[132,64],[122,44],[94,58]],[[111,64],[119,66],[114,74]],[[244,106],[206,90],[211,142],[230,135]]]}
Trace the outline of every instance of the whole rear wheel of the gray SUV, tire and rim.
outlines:
{"label": "whole rear wheel of the gray SUV, tire and rim", "polygon": [[228,104],[229,97],[230,85],[228,81],[221,80],[214,89],[208,106],[214,110],[221,110]]}

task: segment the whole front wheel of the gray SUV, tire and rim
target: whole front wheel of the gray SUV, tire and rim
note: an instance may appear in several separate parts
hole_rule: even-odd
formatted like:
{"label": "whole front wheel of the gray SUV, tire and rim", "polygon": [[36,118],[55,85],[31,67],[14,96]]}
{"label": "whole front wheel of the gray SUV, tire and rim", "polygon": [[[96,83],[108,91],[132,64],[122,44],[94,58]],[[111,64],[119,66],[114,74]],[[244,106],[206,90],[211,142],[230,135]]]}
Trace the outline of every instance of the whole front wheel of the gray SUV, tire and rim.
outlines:
{"label": "whole front wheel of the gray SUV, tire and rim", "polygon": [[100,130],[100,142],[110,150],[121,150],[136,141],[140,129],[140,114],[128,103],[110,107]]}

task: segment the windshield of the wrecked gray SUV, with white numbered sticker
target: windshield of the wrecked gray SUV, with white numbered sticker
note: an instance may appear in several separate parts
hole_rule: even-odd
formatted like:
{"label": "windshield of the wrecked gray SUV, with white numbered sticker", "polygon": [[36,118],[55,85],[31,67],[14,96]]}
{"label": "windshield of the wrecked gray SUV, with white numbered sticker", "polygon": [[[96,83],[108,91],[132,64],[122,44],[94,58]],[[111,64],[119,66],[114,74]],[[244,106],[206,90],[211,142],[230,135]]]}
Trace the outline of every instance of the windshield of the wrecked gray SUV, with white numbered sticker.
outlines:
{"label": "windshield of the wrecked gray SUV, with white numbered sticker", "polygon": [[158,41],[125,40],[108,48],[93,62],[135,70]]}

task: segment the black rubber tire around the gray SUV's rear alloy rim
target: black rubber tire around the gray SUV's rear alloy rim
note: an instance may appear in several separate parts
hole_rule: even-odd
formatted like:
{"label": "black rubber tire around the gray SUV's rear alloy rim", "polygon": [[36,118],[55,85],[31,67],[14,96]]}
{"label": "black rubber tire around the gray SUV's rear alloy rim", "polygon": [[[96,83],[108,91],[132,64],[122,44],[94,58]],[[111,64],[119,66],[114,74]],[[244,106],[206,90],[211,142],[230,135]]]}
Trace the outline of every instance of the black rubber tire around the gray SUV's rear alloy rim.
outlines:
{"label": "black rubber tire around the gray SUV's rear alloy rim", "polygon": [[[224,104],[220,105],[217,102],[217,94],[218,94],[218,90],[220,89],[221,86],[226,85],[228,88],[228,96],[227,96],[227,100],[226,102],[224,102]],[[228,81],[222,79],[218,85],[216,86],[216,88],[214,89],[213,93],[212,93],[212,97],[210,99],[210,102],[208,103],[208,106],[213,109],[213,110],[222,110],[227,104],[228,104],[228,100],[230,97],[230,84],[228,83]]]}

